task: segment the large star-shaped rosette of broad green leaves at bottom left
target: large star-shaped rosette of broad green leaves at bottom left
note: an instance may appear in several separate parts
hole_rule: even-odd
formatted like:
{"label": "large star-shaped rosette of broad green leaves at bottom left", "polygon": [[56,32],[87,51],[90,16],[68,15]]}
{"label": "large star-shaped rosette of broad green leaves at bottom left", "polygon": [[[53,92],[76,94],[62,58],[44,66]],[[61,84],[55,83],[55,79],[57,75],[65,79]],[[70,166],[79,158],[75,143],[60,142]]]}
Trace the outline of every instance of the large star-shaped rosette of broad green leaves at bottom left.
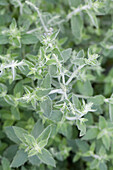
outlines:
{"label": "large star-shaped rosette of broad green leaves at bottom left", "polygon": [[11,167],[19,167],[27,160],[31,158],[35,159],[36,157],[47,165],[55,166],[52,155],[44,148],[48,143],[51,131],[51,125],[43,129],[43,125],[40,121],[35,124],[31,134],[20,127],[6,127],[5,132],[7,136],[21,148],[17,151]]}

